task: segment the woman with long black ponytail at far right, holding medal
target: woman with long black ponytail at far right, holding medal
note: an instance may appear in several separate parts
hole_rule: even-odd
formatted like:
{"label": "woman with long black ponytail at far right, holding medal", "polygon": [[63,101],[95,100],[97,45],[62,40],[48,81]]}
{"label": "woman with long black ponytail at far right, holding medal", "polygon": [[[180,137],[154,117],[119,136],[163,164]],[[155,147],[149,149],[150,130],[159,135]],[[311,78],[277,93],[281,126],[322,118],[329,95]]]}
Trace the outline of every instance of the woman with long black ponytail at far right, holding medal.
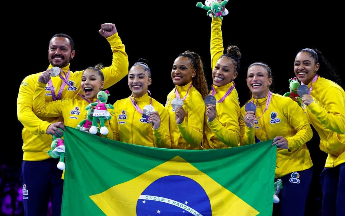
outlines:
{"label": "woman with long black ponytail at far right, holding medal", "polygon": [[300,50],[294,62],[297,79],[309,88],[303,109],[328,153],[321,172],[322,214],[345,215],[345,92],[335,69],[317,49]]}

